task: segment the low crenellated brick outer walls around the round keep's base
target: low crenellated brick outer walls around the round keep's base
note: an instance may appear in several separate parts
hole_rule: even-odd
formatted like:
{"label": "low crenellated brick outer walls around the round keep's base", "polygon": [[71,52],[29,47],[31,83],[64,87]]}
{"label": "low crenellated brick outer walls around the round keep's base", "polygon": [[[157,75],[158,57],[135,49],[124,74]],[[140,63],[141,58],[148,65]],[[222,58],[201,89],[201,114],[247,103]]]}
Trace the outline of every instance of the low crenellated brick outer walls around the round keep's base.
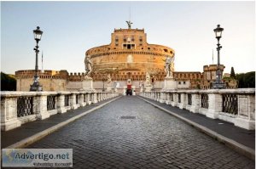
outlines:
{"label": "low crenellated brick outer walls around the round keep's base", "polygon": [[[221,65],[224,69],[224,65]],[[211,67],[211,69],[209,69]],[[198,72],[183,72],[183,71],[176,71],[173,73],[174,79],[177,81],[177,88],[201,88],[201,89],[208,89],[212,87],[212,82],[216,79],[216,70],[217,65],[205,65],[204,71],[201,73]],[[33,76],[35,74],[35,70],[18,70],[15,72],[15,77],[17,80],[17,91],[29,91],[30,85],[33,82]],[[101,76],[102,77],[102,76]],[[121,76],[123,79],[116,78],[114,81],[119,82],[119,87],[122,85],[126,85],[126,78],[125,76]],[[136,76],[131,75],[129,76],[131,81],[137,82],[137,88],[139,87],[139,81],[145,81],[145,76]],[[160,79],[158,79],[160,77]],[[165,77],[165,74],[154,75],[151,76],[152,84],[158,84],[159,86],[162,85],[162,82]],[[226,77],[226,76],[224,76]],[[84,80],[84,73],[68,73],[67,70],[44,70],[41,72],[39,70],[39,79],[40,84],[44,87],[44,91],[74,91],[76,88],[79,87],[79,82]],[[98,81],[97,81],[98,80]],[[162,80],[162,81],[161,81]],[[94,79],[94,83],[98,83],[98,87],[95,88],[97,90],[102,90],[103,88],[103,81],[106,82],[107,79],[105,78],[103,81],[102,79]],[[226,87],[228,88],[236,88],[237,82],[234,79],[224,78],[224,82]],[[106,83],[105,83],[106,85]],[[136,85],[133,83],[133,85]],[[105,86],[106,87],[106,86]],[[154,87],[154,89],[160,89]]]}

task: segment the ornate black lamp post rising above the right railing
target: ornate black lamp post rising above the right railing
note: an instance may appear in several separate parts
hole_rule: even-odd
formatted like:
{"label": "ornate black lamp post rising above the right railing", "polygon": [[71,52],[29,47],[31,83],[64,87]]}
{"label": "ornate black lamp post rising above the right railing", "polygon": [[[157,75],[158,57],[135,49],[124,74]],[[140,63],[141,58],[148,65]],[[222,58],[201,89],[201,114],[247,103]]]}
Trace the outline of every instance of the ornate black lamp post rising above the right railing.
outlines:
{"label": "ornate black lamp post rising above the right railing", "polygon": [[215,36],[218,40],[217,44],[217,51],[218,51],[218,65],[217,65],[217,71],[216,71],[216,81],[213,82],[213,88],[225,88],[224,82],[222,82],[222,73],[220,70],[220,64],[219,64],[219,51],[222,48],[219,44],[219,39],[221,38],[222,31],[224,31],[223,28],[220,27],[220,25],[217,25],[217,28],[213,30],[215,32]]}

